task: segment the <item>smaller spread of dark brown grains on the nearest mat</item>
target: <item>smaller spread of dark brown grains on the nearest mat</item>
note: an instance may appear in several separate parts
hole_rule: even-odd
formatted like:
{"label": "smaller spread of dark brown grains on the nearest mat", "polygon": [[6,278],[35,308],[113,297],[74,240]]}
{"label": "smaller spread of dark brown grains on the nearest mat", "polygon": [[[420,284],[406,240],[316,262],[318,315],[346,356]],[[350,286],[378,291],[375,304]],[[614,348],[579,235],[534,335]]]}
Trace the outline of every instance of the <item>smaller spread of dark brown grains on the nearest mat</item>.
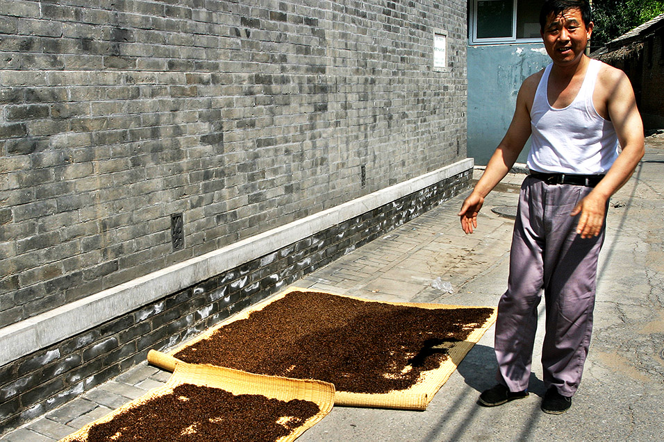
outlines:
{"label": "smaller spread of dark brown grains on the nearest mat", "polygon": [[306,400],[236,396],[213,387],[181,384],[172,393],[92,425],[87,437],[71,442],[276,441],[318,411],[315,403]]}

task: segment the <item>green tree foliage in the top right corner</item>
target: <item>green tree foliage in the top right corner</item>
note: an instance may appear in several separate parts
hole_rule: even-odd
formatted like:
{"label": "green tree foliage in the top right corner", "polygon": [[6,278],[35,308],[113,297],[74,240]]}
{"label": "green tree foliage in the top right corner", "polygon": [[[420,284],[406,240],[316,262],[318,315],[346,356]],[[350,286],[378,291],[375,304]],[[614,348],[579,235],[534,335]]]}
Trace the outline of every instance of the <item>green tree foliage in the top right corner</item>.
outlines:
{"label": "green tree foliage in the top right corner", "polygon": [[610,42],[664,12],[664,0],[593,0],[591,49]]}

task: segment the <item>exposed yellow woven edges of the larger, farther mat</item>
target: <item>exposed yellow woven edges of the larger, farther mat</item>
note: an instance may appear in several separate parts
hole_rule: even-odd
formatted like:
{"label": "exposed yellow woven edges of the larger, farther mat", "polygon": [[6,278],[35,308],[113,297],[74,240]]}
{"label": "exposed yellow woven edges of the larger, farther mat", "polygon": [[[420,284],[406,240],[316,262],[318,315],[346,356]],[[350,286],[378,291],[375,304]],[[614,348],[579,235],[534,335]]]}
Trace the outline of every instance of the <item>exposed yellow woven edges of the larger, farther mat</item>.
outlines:
{"label": "exposed yellow woven edges of the larger, farther mat", "polygon": [[[148,354],[148,361],[160,368],[163,368],[168,371],[172,371],[176,364],[179,364],[178,359],[174,355],[190,346],[195,346],[195,344],[203,339],[208,339],[212,336],[219,328],[223,328],[229,323],[235,321],[242,321],[249,318],[251,313],[256,312],[260,309],[263,309],[269,303],[274,303],[276,300],[288,296],[292,291],[304,291],[311,293],[321,293],[319,290],[306,290],[292,288],[284,291],[283,293],[268,298],[262,303],[258,303],[253,307],[250,307],[247,310],[244,310],[238,315],[229,318],[229,320],[216,325],[214,328],[210,328],[206,332],[200,334],[198,337],[183,343],[181,346],[174,348],[173,350],[163,353],[156,350],[151,350]],[[339,295],[333,295],[339,296]],[[347,296],[347,298],[351,298]],[[381,301],[375,300],[365,300],[352,298],[356,300],[361,300],[367,303],[381,303]],[[463,308],[472,308],[469,306],[460,306],[460,305],[442,305],[442,304],[424,304],[424,303],[385,303],[389,305],[400,305],[405,307],[419,307],[424,309],[463,309]],[[336,389],[334,395],[335,405],[345,405],[345,406],[354,406],[354,407],[381,407],[381,408],[390,408],[390,409],[414,409],[414,410],[423,410],[426,409],[426,406],[429,405],[429,402],[433,399],[435,393],[440,389],[440,387],[447,382],[450,375],[454,373],[458,364],[463,360],[468,351],[474,346],[483,334],[488,330],[488,328],[495,322],[497,311],[492,307],[483,307],[491,308],[492,314],[479,327],[474,328],[470,335],[465,339],[465,341],[457,342],[447,342],[443,346],[436,348],[445,348],[447,349],[447,359],[445,359],[442,364],[433,370],[424,371],[420,375],[420,379],[417,382],[410,386],[410,388],[400,391],[390,391],[388,393],[355,393],[350,391],[340,391]]]}

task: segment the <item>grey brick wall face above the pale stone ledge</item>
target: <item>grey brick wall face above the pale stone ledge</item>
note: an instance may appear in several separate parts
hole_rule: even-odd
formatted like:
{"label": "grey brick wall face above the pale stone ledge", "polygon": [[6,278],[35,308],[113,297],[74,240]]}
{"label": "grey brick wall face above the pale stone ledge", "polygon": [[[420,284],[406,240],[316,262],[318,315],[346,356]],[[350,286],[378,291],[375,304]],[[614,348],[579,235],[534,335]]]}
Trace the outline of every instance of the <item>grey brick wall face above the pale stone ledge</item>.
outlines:
{"label": "grey brick wall face above the pale stone ledge", "polygon": [[465,7],[0,0],[0,327],[465,158]]}

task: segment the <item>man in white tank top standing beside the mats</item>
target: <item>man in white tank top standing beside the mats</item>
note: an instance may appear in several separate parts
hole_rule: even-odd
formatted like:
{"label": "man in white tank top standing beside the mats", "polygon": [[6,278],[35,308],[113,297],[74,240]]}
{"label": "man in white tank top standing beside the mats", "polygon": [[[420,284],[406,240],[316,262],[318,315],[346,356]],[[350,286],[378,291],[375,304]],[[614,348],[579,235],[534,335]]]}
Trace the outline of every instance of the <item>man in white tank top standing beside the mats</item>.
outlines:
{"label": "man in white tank top standing beside the mats", "polygon": [[479,402],[491,407],[528,396],[543,289],[541,408],[561,414],[572,405],[590,345],[608,199],[643,156],[643,127],[624,73],[584,53],[593,27],[588,1],[545,1],[540,26],[551,65],[524,80],[511,125],[459,216],[466,233],[477,228],[485,196],[532,135],[508,289],[498,304],[498,384]]}

